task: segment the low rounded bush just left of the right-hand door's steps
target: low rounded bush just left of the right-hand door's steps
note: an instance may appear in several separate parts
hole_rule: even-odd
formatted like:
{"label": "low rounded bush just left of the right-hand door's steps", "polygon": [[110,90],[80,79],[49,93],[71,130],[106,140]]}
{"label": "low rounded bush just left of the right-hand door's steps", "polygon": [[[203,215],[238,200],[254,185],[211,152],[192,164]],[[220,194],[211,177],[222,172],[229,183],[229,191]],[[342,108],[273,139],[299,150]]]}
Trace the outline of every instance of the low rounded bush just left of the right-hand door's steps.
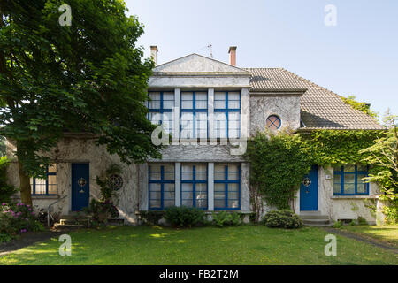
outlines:
{"label": "low rounded bush just left of the right-hand door's steps", "polygon": [[303,226],[302,218],[299,218],[291,210],[272,210],[265,214],[264,224],[271,228],[296,229]]}

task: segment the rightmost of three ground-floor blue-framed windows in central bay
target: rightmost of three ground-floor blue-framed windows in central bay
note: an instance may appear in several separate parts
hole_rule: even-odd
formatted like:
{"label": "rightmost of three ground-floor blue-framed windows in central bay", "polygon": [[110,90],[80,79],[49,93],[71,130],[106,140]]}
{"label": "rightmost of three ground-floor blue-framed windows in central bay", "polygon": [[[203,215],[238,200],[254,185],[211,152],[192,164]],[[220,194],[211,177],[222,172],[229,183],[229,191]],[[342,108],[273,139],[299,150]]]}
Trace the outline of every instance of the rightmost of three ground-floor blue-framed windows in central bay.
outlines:
{"label": "rightmost of three ground-floor blue-framed windows in central bay", "polygon": [[214,165],[214,210],[241,209],[241,165]]}

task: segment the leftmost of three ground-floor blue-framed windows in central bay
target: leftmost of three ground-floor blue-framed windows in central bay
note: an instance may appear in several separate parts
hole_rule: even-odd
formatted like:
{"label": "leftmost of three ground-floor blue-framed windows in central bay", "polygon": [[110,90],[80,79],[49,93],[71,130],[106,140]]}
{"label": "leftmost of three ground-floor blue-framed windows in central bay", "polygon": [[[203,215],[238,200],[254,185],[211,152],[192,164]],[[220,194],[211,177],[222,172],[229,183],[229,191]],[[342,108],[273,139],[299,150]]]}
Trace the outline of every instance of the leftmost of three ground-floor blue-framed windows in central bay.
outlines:
{"label": "leftmost of three ground-floor blue-framed windows in central bay", "polygon": [[149,165],[149,210],[163,210],[175,203],[174,164]]}

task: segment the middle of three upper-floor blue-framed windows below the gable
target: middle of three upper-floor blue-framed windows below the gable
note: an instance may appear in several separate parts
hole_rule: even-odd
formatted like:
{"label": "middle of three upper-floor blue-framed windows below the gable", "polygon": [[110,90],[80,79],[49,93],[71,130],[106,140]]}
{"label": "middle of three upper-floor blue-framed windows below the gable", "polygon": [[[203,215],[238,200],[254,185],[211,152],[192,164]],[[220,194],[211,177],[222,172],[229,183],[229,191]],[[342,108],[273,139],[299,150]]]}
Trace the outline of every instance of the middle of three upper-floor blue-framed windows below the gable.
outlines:
{"label": "middle of three upper-floor blue-framed windows below the gable", "polygon": [[207,92],[181,92],[182,139],[207,138]]}

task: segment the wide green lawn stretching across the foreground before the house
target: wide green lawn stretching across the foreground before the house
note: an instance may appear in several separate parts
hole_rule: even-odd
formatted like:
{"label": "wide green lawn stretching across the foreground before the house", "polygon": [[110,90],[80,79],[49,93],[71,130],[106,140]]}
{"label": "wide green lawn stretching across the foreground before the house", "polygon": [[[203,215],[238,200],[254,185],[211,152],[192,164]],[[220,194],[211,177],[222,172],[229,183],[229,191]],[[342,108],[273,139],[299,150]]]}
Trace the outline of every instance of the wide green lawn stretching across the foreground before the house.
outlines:
{"label": "wide green lawn stretching across the foreground before the house", "polygon": [[325,230],[264,226],[108,227],[70,233],[72,256],[51,239],[0,257],[0,264],[398,264],[398,255],[337,236],[337,256],[325,256]]}

